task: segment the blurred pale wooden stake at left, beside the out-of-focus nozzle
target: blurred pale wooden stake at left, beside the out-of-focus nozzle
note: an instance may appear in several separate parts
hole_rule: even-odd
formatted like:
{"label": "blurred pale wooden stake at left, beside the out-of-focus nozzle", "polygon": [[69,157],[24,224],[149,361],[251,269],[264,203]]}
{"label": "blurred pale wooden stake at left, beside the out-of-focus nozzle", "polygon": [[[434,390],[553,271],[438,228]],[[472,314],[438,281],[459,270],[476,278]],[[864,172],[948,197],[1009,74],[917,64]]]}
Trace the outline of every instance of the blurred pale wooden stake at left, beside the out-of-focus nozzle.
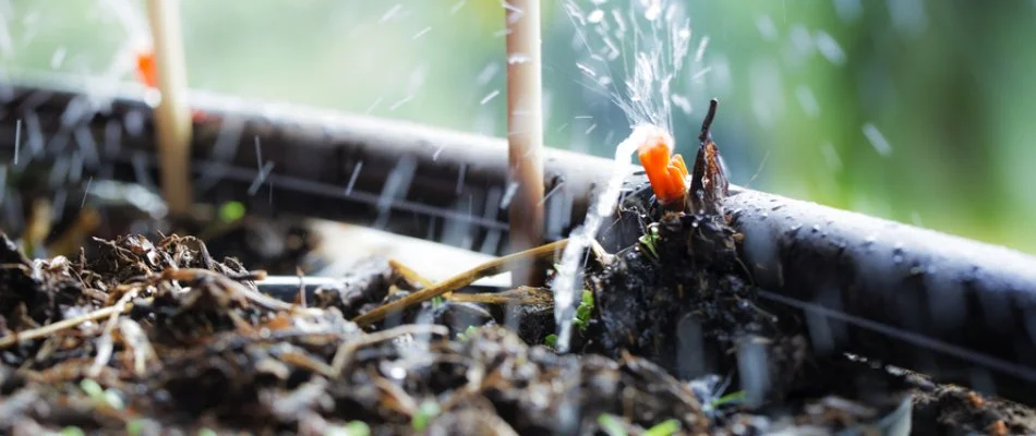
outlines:
{"label": "blurred pale wooden stake at left, beside the out-of-focus nozzle", "polygon": [[147,16],[155,45],[155,65],[161,101],[155,109],[155,136],[161,165],[161,189],[173,216],[191,207],[191,110],[188,107],[188,80],[180,34],[180,2],[148,0]]}

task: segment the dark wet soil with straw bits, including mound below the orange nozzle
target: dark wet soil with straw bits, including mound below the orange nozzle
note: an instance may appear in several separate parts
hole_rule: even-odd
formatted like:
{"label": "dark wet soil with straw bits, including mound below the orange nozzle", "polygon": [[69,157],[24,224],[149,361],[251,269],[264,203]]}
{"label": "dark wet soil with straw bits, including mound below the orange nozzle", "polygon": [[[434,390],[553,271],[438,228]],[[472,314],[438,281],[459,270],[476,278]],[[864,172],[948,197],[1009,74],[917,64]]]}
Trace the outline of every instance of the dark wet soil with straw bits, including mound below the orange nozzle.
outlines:
{"label": "dark wet soil with straw bits, including mound below the orange nozzle", "polygon": [[43,259],[4,237],[0,433],[1036,433],[1027,407],[814,355],[802,320],[756,298],[722,215],[634,215],[649,237],[588,263],[569,354],[550,306],[437,299],[359,328],[420,289],[385,259],[265,296],[258,269],[322,262],[287,219]]}

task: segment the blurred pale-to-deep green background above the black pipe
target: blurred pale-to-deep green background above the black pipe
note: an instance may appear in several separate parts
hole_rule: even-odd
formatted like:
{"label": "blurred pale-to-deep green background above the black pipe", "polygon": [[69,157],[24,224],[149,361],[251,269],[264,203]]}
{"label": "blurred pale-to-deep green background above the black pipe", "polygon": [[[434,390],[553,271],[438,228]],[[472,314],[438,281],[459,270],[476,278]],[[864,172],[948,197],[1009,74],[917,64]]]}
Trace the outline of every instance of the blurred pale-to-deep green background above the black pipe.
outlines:
{"label": "blurred pale-to-deep green background above the black pipe", "polygon": [[[607,21],[630,1],[641,0],[576,3]],[[718,97],[736,183],[1036,253],[1036,1],[674,3],[691,27],[672,85],[691,107],[673,110],[679,152]],[[603,39],[565,2],[543,4],[546,141],[611,155],[629,125],[577,68],[593,59],[576,31]],[[0,80],[133,80],[124,53],[147,35],[142,8],[0,0]],[[182,11],[192,87],[505,135],[498,0],[182,0]],[[634,39],[617,44],[628,53]]]}

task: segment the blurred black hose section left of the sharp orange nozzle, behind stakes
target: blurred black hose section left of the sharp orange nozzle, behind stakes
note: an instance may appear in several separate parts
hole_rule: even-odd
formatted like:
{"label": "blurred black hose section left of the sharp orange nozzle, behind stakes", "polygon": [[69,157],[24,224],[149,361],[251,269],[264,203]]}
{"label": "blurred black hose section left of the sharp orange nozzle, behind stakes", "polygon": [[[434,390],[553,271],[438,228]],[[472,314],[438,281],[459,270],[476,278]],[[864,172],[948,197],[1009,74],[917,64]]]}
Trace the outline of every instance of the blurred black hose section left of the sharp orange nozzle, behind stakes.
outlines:
{"label": "blurred black hose section left of the sharp orange nozzle, behind stakes", "polygon": [[[152,108],[137,87],[105,99],[61,83],[0,83],[0,159],[77,159],[98,174],[155,184]],[[508,185],[503,140],[288,105],[192,94],[192,172],[200,202],[241,201],[251,213],[350,221],[503,253]],[[574,166],[589,161],[586,168]],[[544,156],[550,240],[581,216],[601,159]],[[101,165],[103,164],[103,165]]]}

